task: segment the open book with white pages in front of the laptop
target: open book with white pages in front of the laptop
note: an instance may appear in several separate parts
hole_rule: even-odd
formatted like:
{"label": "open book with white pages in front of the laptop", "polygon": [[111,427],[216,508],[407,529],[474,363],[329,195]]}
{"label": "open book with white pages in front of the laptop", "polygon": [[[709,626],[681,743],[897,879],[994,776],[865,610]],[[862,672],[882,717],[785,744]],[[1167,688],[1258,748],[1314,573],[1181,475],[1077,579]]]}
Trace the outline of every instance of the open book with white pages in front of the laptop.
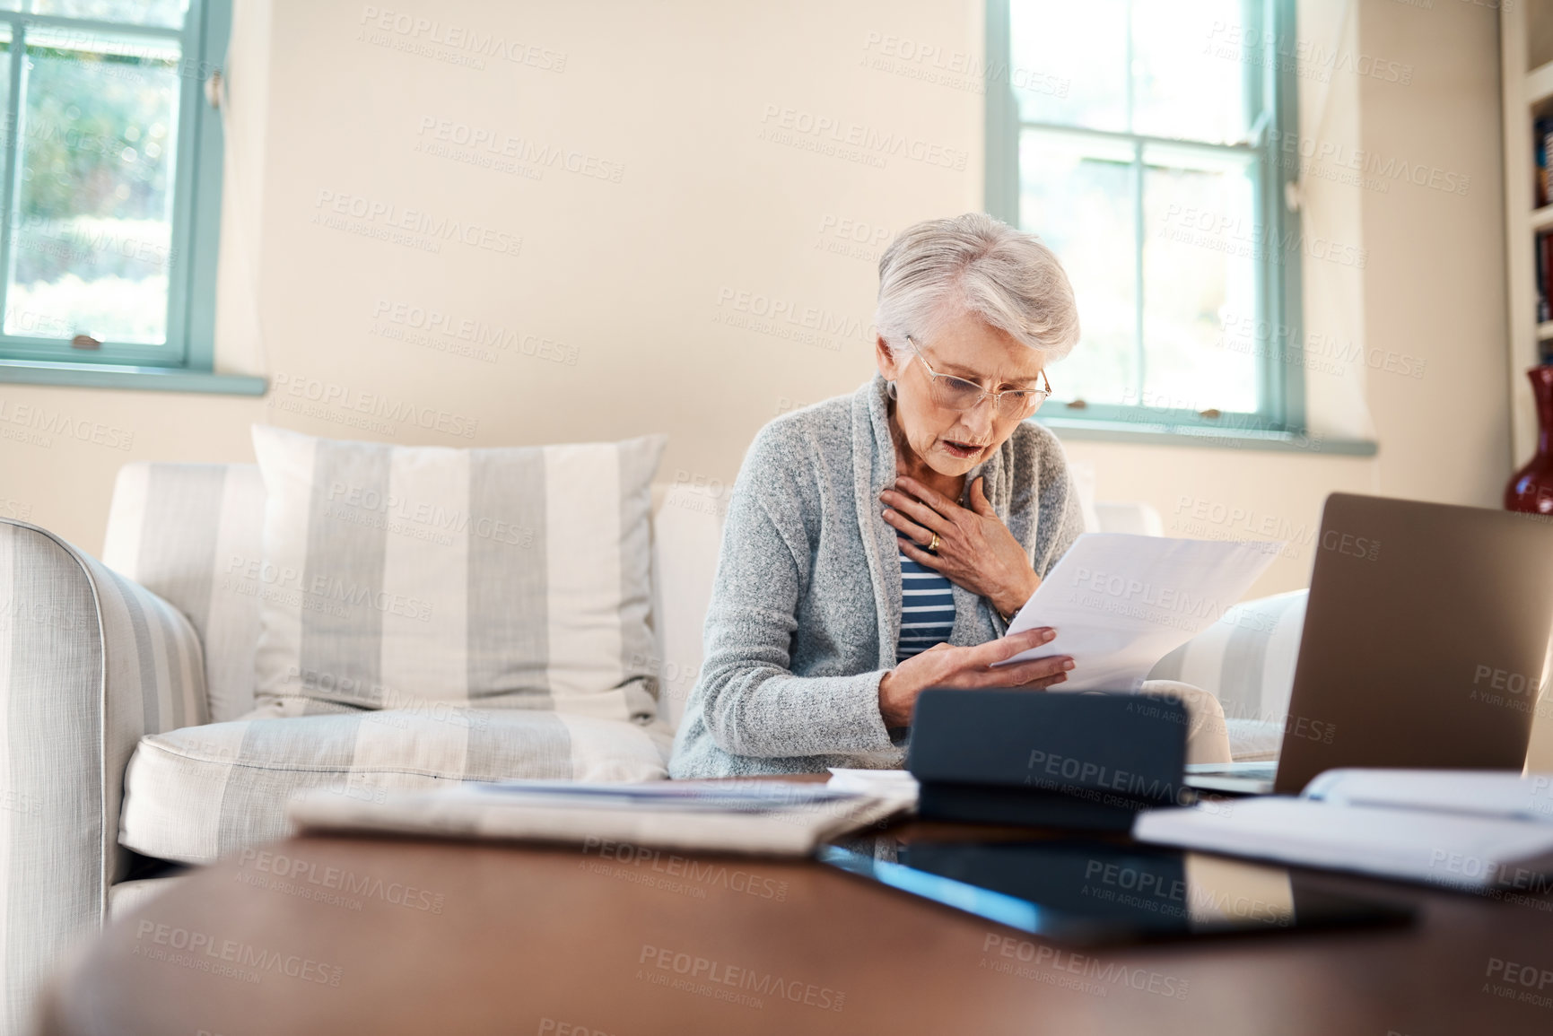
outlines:
{"label": "open book with white pages in front of the laptop", "polygon": [[1553,888],[1553,775],[1329,770],[1300,798],[1138,814],[1132,836],[1452,888]]}

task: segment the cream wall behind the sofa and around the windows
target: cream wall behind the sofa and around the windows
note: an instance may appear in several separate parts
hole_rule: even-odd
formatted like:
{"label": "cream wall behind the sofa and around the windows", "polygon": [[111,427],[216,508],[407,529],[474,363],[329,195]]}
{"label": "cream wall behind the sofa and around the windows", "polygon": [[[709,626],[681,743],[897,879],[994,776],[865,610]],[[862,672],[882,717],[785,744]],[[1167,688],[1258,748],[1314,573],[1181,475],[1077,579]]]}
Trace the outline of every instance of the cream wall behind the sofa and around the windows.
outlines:
{"label": "cream wall behind the sofa and around the windows", "polygon": [[[228,370],[331,402],[303,413],[286,391],[266,402],[0,385],[8,405],[134,433],[127,450],[0,440],[0,505],[93,553],[120,464],[252,460],[253,421],[446,446],[665,430],[663,480],[728,481],[783,407],[871,374],[874,231],[981,205],[981,96],[924,82],[910,62],[870,61],[881,56],[870,40],[885,36],[946,59],[978,54],[978,0],[755,12],[713,0],[446,0],[412,11],[444,34],[531,48],[514,51],[530,64],[488,56],[483,68],[449,61],[460,57],[450,45],[374,37],[360,3],[238,2],[219,353]],[[1510,472],[1496,14],[1455,0],[1364,0],[1346,22],[1337,0],[1301,11],[1312,37],[1351,51],[1326,81],[1306,79],[1301,134],[1471,177],[1464,196],[1329,176],[1308,189],[1308,219],[1367,249],[1362,270],[1306,262],[1308,323],[1421,359],[1424,376],[1312,373],[1320,426],[1337,435],[1373,418],[1374,458],[1068,441],[1095,461],[1103,499],[1149,500],[1174,534],[1292,536],[1256,592],[1306,582],[1329,491],[1492,505]],[[1376,57],[1407,67],[1410,82],[1350,71]],[[921,158],[876,168],[845,141],[817,154],[766,138],[787,110],[831,120],[843,137],[907,135]],[[444,120],[581,168],[460,162],[483,152],[438,154]],[[474,244],[394,231],[387,214],[337,216],[331,197],[393,207],[412,227],[457,221]],[[865,241],[836,233],[842,221],[865,225]],[[390,233],[401,239],[374,236]],[[516,238],[517,255],[499,252]],[[741,306],[755,300],[790,320],[747,326]],[[488,348],[494,362],[461,356],[447,348],[467,345],[453,335],[394,323],[401,308],[472,322],[506,348]],[[795,334],[804,323],[825,329]],[[401,418],[353,424],[354,407],[374,405]]]}

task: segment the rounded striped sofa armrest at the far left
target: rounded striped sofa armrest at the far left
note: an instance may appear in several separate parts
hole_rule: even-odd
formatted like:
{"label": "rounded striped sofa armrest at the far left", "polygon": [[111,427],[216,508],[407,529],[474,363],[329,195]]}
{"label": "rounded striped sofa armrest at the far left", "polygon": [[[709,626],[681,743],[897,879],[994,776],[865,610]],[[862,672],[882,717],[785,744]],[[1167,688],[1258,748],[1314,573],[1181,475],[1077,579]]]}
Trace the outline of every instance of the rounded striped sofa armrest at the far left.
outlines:
{"label": "rounded striped sofa armrest at the far left", "polygon": [[107,913],[124,767],[144,733],[207,722],[199,638],[171,604],[36,525],[0,519],[0,1031]]}

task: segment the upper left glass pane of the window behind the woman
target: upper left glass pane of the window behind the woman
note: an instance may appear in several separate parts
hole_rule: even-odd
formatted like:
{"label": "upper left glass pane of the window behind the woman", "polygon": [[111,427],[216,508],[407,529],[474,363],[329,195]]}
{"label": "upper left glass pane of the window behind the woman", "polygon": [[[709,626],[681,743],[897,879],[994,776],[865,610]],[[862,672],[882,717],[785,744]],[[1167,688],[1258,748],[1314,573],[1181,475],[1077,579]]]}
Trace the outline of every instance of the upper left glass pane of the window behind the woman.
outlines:
{"label": "upper left glass pane of the window behind the woman", "polygon": [[1020,120],[1127,129],[1126,0],[1011,0],[1009,59]]}

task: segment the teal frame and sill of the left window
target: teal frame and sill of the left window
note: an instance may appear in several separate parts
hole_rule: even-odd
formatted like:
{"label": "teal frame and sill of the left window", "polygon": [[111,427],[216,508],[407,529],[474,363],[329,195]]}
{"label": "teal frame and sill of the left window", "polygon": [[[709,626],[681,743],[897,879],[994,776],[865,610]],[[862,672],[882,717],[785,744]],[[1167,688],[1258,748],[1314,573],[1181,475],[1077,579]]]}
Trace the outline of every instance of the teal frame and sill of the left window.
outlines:
{"label": "teal frame and sill of the left window", "polygon": [[59,339],[0,331],[0,382],[261,395],[262,377],[213,373],[224,127],[221,110],[205,98],[205,81],[227,61],[231,0],[189,0],[182,28],[25,11],[0,11],[0,25],[11,28],[6,109],[11,132],[0,154],[0,314],[9,306],[12,219],[20,191],[20,155],[26,144],[23,62],[28,30],[75,30],[180,43],[166,343],[104,339],[95,349],[78,349]]}

